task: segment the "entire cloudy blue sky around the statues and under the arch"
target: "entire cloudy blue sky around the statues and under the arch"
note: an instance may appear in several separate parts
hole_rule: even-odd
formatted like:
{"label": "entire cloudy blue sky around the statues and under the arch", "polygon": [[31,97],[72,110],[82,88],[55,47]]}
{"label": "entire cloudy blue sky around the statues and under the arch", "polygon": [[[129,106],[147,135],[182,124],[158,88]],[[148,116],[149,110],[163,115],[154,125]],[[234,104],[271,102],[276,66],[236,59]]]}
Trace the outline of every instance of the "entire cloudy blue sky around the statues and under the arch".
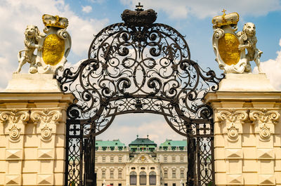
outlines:
{"label": "entire cloudy blue sky around the statues and under the arch", "polygon": [[[245,22],[256,24],[257,48],[263,51],[261,67],[275,88],[281,90],[281,2],[278,0],[139,0],[145,9],[157,11],[156,22],[175,27],[185,39],[191,51],[192,60],[200,63],[203,69],[210,67],[217,74],[215,55],[211,46],[213,29],[211,19],[226,13],[240,14],[238,30]],[[24,47],[23,40],[26,25],[34,24],[42,31],[44,25],[41,15],[48,13],[69,19],[67,27],[72,36],[72,51],[68,56],[68,66],[87,58],[87,51],[103,27],[122,22],[120,15],[124,9],[134,9],[138,1],[134,0],[0,0],[0,88],[6,88],[11,74],[18,66],[18,51]],[[251,63],[254,68],[254,63]],[[256,72],[256,69],[254,69]],[[27,65],[22,70],[27,73]],[[132,119],[133,118],[133,119]],[[161,126],[162,130],[157,130]],[[116,133],[116,131],[119,131]],[[128,132],[133,131],[133,132]],[[108,131],[98,138],[120,138],[128,144],[136,135],[150,135],[152,140],[162,142],[166,138],[182,139],[171,130],[164,119],[151,115],[124,115],[117,117]]]}

